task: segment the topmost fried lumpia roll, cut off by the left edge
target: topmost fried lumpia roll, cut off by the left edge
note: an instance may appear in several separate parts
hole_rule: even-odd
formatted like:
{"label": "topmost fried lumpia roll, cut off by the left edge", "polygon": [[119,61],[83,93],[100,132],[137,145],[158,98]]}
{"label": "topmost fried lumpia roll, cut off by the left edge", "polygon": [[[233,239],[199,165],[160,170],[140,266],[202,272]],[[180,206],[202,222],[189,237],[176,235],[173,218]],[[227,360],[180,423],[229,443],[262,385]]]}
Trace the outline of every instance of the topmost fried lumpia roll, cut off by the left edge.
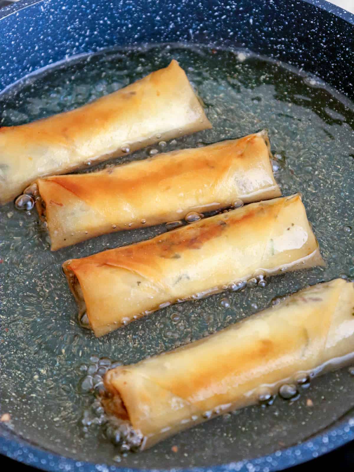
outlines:
{"label": "topmost fried lumpia roll, cut off by the left edge", "polygon": [[38,177],[63,174],[211,128],[176,60],[76,110],[0,128],[0,203]]}

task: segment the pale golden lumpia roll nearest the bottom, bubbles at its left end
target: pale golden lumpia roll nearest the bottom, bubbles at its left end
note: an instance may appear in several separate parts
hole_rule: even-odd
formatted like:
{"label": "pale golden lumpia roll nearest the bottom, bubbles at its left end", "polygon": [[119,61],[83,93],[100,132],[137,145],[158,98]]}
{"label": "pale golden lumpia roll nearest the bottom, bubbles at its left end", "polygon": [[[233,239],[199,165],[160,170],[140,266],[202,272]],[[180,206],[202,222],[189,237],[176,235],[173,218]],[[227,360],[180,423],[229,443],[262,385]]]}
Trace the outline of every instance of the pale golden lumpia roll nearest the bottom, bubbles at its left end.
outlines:
{"label": "pale golden lumpia roll nearest the bottom, bubbles at its left end", "polygon": [[285,383],[296,385],[304,374],[348,362],[354,353],[353,310],[352,282],[306,288],[212,336],[108,371],[103,405],[133,429],[134,446],[151,447],[253,405]]}

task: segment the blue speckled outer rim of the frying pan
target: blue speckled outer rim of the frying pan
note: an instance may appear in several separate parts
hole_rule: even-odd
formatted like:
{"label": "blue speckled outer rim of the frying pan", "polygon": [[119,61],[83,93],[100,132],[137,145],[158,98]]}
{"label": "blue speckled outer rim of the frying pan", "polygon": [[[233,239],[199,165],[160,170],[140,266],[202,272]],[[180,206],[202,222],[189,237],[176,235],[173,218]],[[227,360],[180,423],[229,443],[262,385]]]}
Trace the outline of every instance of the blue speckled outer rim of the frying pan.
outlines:
{"label": "blue speckled outer rim of the frying pan", "polygon": [[[1,18],[13,15],[19,10],[28,8],[35,3],[45,0],[20,0],[13,5],[0,10]],[[326,0],[301,0],[316,7],[333,13],[354,25],[354,15],[343,8],[337,7]],[[30,442],[18,438],[6,438],[4,435],[12,435],[6,429],[0,428],[0,454],[48,472],[142,472],[142,469],[131,469],[108,464],[93,464],[85,461],[77,461],[63,455],[53,454],[50,451],[32,445]],[[286,449],[277,450],[273,454],[265,455],[256,459],[243,460],[240,462],[211,465],[210,467],[193,467],[188,469],[173,468],[174,472],[276,472],[298,464],[303,464],[315,457],[324,455],[346,443],[354,440],[354,415],[353,418],[339,420],[339,426],[330,428],[305,442]],[[149,472],[148,469],[145,469]],[[155,469],[151,472],[157,472]],[[161,470],[164,472],[166,470]],[[167,472],[167,471],[166,471]]]}

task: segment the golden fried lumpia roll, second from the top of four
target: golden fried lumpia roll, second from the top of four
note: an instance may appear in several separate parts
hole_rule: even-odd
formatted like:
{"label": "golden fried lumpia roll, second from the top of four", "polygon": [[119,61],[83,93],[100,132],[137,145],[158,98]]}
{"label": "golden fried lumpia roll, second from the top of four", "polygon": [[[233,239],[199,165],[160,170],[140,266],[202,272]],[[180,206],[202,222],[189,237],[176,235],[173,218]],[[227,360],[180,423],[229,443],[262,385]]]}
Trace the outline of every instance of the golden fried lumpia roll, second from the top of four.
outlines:
{"label": "golden fried lumpia roll, second from the top of four", "polygon": [[[280,196],[267,133],[173,151],[92,174],[37,180],[54,251],[112,231]],[[44,202],[44,205],[43,205]],[[45,210],[44,210],[45,207]]]}

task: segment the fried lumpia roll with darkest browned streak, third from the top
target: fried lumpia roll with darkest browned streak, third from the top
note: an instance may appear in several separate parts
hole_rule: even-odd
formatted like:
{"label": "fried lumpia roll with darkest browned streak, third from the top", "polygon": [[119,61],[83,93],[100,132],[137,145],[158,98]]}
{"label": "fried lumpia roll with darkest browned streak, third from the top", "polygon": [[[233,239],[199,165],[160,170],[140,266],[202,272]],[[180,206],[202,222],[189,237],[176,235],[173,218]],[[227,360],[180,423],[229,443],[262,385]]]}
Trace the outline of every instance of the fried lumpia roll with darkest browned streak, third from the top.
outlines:
{"label": "fried lumpia roll with darkest browned streak, third from the top", "polygon": [[202,219],[63,264],[79,316],[102,336],[166,304],[228,284],[323,264],[299,194]]}

